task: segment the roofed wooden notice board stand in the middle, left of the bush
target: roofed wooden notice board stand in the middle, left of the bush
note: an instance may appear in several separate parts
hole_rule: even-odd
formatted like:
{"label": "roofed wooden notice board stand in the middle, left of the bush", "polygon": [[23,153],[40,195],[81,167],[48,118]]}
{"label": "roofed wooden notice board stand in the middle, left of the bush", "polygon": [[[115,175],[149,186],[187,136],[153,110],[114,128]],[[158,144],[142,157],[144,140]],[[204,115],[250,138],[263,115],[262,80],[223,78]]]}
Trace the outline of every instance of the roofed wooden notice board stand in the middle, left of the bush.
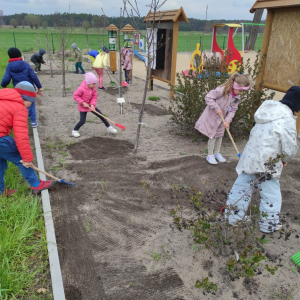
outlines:
{"label": "roofed wooden notice board stand in the middle, left of the bush", "polygon": [[[153,79],[175,86],[179,22],[188,23],[182,7],[179,9],[149,12],[144,23],[150,22],[151,28],[157,29],[156,68],[151,69],[149,86],[153,89]],[[153,24],[154,23],[154,24]],[[173,98],[174,91],[170,91]]]}

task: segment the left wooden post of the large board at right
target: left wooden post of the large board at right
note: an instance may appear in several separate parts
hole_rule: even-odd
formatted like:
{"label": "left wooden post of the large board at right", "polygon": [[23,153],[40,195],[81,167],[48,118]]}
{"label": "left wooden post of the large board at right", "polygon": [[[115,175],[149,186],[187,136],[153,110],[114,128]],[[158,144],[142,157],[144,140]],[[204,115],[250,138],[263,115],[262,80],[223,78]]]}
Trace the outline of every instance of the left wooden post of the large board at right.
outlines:
{"label": "left wooden post of the large board at right", "polygon": [[[260,65],[262,64],[262,56],[264,54],[268,53],[269,41],[270,41],[270,36],[271,36],[271,31],[272,31],[272,24],[273,24],[273,17],[274,17],[274,12],[268,9],[264,37],[263,37],[263,41],[262,41],[262,45],[261,45],[261,52],[260,52],[261,56],[260,56],[260,61],[259,61]],[[259,75],[256,78],[256,89],[257,90],[261,89],[259,85],[263,81],[265,68],[266,68],[266,60],[261,69],[261,72],[259,73]]]}

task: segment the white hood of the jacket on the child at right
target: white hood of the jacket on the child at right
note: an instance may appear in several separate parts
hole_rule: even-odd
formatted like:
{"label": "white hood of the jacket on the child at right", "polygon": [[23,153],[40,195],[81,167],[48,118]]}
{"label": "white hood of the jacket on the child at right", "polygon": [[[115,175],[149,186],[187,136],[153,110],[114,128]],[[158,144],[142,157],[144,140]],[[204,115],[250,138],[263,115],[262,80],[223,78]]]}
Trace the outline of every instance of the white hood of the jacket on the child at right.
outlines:
{"label": "white hood of the jacket on the child at right", "polygon": [[266,100],[256,111],[254,120],[258,124],[266,124],[291,117],[293,117],[293,112],[287,105],[279,101]]}

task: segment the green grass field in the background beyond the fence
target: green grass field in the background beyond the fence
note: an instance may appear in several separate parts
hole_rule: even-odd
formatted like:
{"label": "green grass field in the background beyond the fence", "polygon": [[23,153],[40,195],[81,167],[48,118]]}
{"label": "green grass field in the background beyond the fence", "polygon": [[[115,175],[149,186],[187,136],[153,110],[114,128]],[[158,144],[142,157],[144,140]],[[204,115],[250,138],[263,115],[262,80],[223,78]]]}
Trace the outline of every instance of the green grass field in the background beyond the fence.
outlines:
{"label": "green grass field in the background beyond the fence", "polygon": [[[53,45],[55,50],[59,50],[59,43],[56,39],[56,32],[53,28],[48,28],[50,33],[50,46],[53,50]],[[39,29],[30,29],[30,28],[0,28],[0,50],[7,51],[10,47],[17,47],[24,52],[28,51],[37,51],[39,48],[37,42],[37,35],[40,34],[41,37],[41,48],[47,49],[46,38],[43,34],[41,28]],[[53,44],[52,44],[52,34],[53,34]],[[248,34],[247,34],[248,36]],[[15,40],[14,40],[15,37]],[[89,39],[89,48],[90,49],[99,49],[102,45],[108,45],[108,35],[107,31],[104,32],[104,35],[97,34],[94,28],[88,30],[88,39]],[[99,44],[99,41],[100,44]],[[121,40],[123,40],[123,35]],[[196,49],[196,44],[202,40],[202,32],[197,31],[180,31],[178,34],[178,52],[188,51],[193,52]],[[15,42],[14,42],[15,41]],[[227,45],[227,34],[217,34],[217,41],[221,49],[226,48]],[[85,32],[82,28],[75,28],[74,38],[70,41],[71,43],[75,42],[79,48],[86,49],[86,37]],[[238,50],[242,50],[242,35],[238,33],[234,37],[234,43]],[[255,45],[255,50],[260,49],[262,43],[262,34],[259,34],[257,42]],[[203,49],[208,51],[211,47],[211,33],[205,34],[203,38]],[[70,48],[71,49],[71,48]]]}

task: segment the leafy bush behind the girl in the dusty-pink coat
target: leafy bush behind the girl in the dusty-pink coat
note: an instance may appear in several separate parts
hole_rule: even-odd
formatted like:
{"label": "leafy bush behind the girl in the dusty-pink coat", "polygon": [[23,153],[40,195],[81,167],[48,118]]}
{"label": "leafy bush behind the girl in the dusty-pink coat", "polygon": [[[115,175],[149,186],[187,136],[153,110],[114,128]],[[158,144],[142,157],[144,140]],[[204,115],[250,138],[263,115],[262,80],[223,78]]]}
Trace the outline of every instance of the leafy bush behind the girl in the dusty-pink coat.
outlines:
{"label": "leafy bush behind the girl in the dusty-pink coat", "polygon": [[[252,128],[253,115],[258,106],[263,101],[274,97],[274,93],[268,96],[266,90],[259,91],[255,88],[256,78],[265,62],[265,56],[263,56],[260,65],[259,58],[260,54],[258,53],[253,66],[250,64],[250,59],[245,64],[242,62],[240,66],[239,72],[249,76],[252,86],[243,93],[238,111],[230,125],[231,132],[236,135],[248,134]],[[228,77],[226,64],[220,64],[216,56],[211,58],[205,71],[193,73],[190,70],[187,76],[177,73],[178,85],[172,89],[180,90],[183,95],[175,94],[174,100],[171,102],[169,112],[172,115],[172,121],[185,130],[194,128],[196,121],[206,107],[205,96],[209,91],[225,83]]]}

